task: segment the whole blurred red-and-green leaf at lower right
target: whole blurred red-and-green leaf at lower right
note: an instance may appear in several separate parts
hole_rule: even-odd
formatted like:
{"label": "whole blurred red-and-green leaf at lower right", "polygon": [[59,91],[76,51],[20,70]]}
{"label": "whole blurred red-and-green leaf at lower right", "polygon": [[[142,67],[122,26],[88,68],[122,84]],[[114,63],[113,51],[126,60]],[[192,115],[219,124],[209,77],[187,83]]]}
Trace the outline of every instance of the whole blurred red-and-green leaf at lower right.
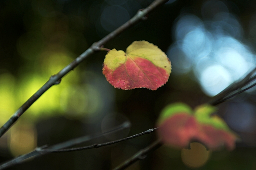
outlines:
{"label": "whole blurred red-and-green leaf at lower right", "polygon": [[178,148],[189,146],[191,141],[199,141],[208,149],[235,148],[235,135],[223,119],[213,115],[215,107],[204,104],[194,111],[183,103],[168,105],[163,109],[157,125],[158,135],[167,145]]}

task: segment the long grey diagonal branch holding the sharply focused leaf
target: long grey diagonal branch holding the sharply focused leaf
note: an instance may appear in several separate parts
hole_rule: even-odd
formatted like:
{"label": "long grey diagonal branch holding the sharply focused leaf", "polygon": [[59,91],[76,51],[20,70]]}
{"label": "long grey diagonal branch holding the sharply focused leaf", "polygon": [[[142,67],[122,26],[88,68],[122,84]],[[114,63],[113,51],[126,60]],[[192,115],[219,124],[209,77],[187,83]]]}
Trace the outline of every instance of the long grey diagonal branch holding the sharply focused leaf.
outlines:
{"label": "long grey diagonal branch holding the sharply focused leaf", "polygon": [[55,84],[59,84],[61,82],[61,78],[65,76],[68,72],[73,70],[78,64],[80,64],[86,57],[92,55],[93,53],[100,50],[100,47],[107,43],[109,40],[113,39],[123,31],[131,28],[136,23],[145,20],[146,15],[153,11],[156,7],[161,4],[167,2],[168,0],[155,0],[152,2],[147,8],[138,11],[138,13],[128,20],[126,23],[121,25],[115,31],[108,34],[106,37],[102,38],[100,41],[92,44],[90,48],[88,48],[85,52],[83,52],[80,56],[78,56],[74,61],[72,61],[65,68],[60,70],[57,74],[54,74],[50,77],[50,79],[35,93],[33,94],[12,116],[11,118],[0,128],[0,137],[12,126],[14,122],[18,120],[18,118],[51,86]]}

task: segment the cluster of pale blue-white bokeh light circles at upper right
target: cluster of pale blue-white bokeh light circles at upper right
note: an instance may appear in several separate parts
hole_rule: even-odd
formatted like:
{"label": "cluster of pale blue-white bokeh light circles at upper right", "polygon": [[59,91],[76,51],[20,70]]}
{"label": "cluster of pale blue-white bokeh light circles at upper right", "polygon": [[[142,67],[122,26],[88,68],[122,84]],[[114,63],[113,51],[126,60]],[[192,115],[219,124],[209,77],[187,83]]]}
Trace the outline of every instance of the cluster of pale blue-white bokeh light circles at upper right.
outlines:
{"label": "cluster of pale blue-white bokeh light circles at upper right", "polygon": [[176,42],[167,55],[173,74],[192,70],[204,93],[214,96],[252,70],[255,54],[241,42],[242,26],[223,2],[207,1],[202,16],[204,20],[191,14],[177,19]]}

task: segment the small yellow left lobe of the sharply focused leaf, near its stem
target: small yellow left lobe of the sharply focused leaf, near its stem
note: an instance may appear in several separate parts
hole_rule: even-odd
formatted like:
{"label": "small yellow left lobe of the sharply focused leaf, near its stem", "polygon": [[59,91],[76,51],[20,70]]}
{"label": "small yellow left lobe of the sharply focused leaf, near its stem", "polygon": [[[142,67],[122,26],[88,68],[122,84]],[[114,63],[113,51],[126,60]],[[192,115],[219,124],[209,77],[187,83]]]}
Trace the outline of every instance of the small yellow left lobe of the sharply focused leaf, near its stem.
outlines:
{"label": "small yellow left lobe of the sharply focused leaf, near its stem", "polygon": [[111,70],[115,70],[126,61],[126,54],[123,50],[116,50],[115,48],[110,50],[104,60],[104,64]]}

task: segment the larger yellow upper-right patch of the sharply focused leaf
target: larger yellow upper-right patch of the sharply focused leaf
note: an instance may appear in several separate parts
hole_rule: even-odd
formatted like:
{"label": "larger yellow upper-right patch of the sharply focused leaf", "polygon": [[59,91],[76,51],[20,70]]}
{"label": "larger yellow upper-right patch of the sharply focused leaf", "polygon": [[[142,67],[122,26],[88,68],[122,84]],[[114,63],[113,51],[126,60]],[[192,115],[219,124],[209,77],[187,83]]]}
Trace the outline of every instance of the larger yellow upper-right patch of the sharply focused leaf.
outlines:
{"label": "larger yellow upper-right patch of the sharply focused leaf", "polygon": [[156,45],[148,41],[134,41],[126,49],[126,53],[133,57],[142,57],[151,61],[154,65],[161,67],[171,73],[171,64],[168,61],[167,55]]}

